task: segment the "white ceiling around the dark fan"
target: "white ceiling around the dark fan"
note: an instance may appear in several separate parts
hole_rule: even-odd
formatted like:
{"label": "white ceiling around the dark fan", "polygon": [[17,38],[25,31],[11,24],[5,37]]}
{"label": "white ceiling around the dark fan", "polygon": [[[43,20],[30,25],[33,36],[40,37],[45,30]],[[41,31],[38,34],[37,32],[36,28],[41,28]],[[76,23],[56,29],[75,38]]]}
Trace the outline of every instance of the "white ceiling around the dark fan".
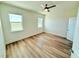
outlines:
{"label": "white ceiling around the dark fan", "polygon": [[[69,9],[77,5],[77,1],[4,1],[3,3],[15,5],[21,8],[45,13],[41,5],[47,3],[48,5],[56,4],[55,8]],[[52,8],[53,10],[53,8]]]}

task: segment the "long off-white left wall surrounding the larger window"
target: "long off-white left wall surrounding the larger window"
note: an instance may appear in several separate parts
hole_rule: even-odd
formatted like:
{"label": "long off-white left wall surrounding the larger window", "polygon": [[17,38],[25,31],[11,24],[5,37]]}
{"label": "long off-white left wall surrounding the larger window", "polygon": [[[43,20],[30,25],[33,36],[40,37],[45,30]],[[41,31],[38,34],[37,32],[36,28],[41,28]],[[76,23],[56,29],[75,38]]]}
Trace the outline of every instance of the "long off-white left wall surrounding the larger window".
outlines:
{"label": "long off-white left wall surrounding the larger window", "polygon": [[[15,42],[23,38],[27,38],[43,31],[43,29],[37,28],[37,18],[38,16],[44,18],[44,15],[7,4],[1,4],[0,8],[6,44]],[[20,13],[23,15],[23,31],[11,32],[8,18],[9,13]]]}

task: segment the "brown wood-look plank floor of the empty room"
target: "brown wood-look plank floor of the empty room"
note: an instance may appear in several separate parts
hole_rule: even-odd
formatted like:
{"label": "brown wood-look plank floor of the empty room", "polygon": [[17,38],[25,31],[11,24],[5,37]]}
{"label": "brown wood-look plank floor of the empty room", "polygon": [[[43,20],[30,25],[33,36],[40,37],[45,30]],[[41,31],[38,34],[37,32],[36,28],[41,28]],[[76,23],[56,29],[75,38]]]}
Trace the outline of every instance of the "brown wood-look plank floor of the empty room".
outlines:
{"label": "brown wood-look plank floor of the empty room", "polygon": [[7,58],[69,58],[71,41],[42,33],[8,44]]}

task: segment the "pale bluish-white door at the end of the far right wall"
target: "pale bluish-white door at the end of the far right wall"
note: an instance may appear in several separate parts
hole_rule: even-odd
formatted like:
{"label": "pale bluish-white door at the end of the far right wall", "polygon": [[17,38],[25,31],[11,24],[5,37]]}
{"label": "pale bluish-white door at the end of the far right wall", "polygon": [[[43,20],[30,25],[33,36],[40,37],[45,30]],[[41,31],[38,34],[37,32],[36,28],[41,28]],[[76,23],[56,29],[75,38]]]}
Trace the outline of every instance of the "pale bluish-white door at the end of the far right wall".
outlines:
{"label": "pale bluish-white door at the end of the far right wall", "polygon": [[76,17],[70,17],[67,31],[67,39],[69,39],[70,41],[73,41],[75,23],[76,23]]}

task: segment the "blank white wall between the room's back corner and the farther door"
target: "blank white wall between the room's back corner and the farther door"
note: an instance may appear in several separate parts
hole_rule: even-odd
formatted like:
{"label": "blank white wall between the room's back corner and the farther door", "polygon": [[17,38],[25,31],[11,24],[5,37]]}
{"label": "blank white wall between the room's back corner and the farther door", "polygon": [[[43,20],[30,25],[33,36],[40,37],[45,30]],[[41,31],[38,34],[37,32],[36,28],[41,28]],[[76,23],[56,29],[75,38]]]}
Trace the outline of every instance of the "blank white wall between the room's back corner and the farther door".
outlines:
{"label": "blank white wall between the room's back corner and the farther door", "polygon": [[45,31],[65,37],[68,20],[64,18],[64,14],[62,14],[62,11],[54,13],[55,14],[49,13],[46,15]]}

